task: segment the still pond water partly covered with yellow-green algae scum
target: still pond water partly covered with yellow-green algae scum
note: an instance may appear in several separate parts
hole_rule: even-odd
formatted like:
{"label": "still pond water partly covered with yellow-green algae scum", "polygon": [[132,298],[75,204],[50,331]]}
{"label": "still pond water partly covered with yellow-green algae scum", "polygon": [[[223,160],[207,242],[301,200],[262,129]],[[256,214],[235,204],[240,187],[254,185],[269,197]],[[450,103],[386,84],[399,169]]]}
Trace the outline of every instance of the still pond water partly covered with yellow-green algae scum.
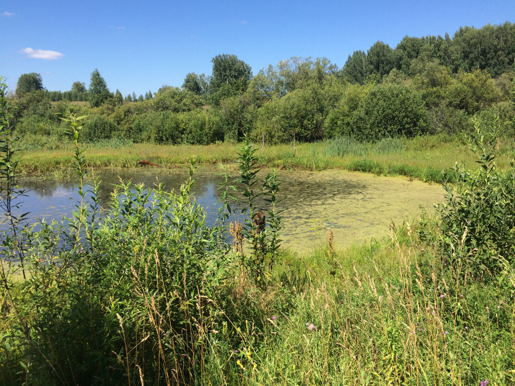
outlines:
{"label": "still pond water partly covered with yellow-green algae scum", "polygon": [[[230,170],[233,177],[237,170]],[[264,174],[262,172],[262,174]],[[260,174],[261,175],[261,174]],[[137,168],[102,170],[99,172],[102,206],[108,205],[112,184],[120,179],[153,186],[157,181],[167,189],[178,189],[188,171],[180,169]],[[405,177],[377,177],[372,174],[344,170],[279,172],[282,184],[280,204],[284,208],[284,245],[299,252],[309,251],[319,243],[317,234],[325,240],[333,230],[337,247],[353,241],[379,239],[388,234],[389,224],[399,225],[420,214],[419,205],[433,212],[433,204],[443,201],[443,188],[438,184],[408,181]],[[195,172],[193,192],[199,204],[207,209],[209,221],[214,221],[219,198],[217,187],[224,181],[219,168],[203,165]],[[20,213],[30,212],[37,218],[61,219],[71,216],[79,201],[77,184],[73,181],[24,179],[20,187],[27,189]],[[234,205],[237,207],[237,205]]]}

